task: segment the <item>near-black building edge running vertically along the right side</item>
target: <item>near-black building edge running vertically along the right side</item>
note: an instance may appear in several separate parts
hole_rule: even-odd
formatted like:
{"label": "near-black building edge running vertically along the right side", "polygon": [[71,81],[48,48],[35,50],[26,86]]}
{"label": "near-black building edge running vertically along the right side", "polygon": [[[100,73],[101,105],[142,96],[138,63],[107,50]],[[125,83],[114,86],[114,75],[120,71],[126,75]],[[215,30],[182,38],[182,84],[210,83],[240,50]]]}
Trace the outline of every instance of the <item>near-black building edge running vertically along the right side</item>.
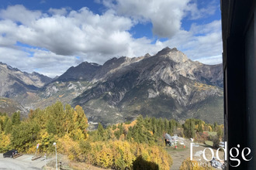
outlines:
{"label": "near-black building edge running vertically along the right side", "polygon": [[[228,148],[238,148],[236,169],[256,169],[255,0],[220,0],[223,34],[224,120]],[[249,162],[241,156],[251,148]],[[236,153],[234,152],[234,155]],[[247,154],[247,151],[246,151]],[[227,155],[229,160],[230,155]],[[228,161],[227,169],[237,162]]]}

